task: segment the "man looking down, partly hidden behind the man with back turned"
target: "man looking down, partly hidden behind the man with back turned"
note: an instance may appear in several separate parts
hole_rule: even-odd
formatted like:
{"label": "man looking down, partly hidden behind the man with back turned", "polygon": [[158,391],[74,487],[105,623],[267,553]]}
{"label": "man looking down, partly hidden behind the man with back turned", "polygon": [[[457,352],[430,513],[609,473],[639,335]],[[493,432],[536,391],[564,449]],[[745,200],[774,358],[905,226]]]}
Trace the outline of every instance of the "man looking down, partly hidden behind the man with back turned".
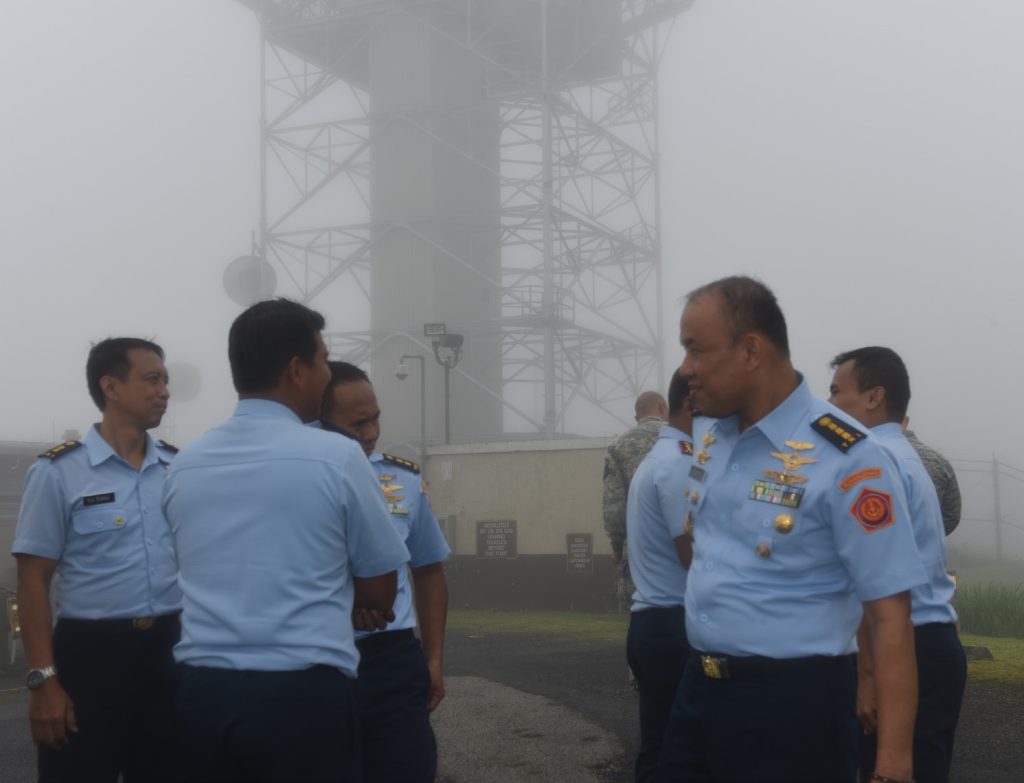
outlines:
{"label": "man looking down, partly hidden behind the man with back turned", "polygon": [[[355,635],[364,774],[368,781],[430,783],[437,769],[437,744],[429,713],[444,697],[444,560],[451,550],[430,509],[420,467],[374,453],[381,409],[367,374],[344,361],[329,365],[331,385],[324,396],[322,425],[358,440],[410,555],[409,569],[398,571],[394,619],[384,629]],[[413,632],[417,623],[419,640]]]}

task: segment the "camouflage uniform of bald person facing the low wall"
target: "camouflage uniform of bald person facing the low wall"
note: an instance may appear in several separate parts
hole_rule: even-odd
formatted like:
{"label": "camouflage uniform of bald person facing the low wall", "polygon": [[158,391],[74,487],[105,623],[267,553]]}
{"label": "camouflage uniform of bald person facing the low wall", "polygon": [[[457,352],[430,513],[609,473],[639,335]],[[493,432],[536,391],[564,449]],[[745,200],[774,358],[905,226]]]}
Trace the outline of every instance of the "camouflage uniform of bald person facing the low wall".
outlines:
{"label": "camouflage uniform of bald person facing the low wall", "polygon": [[656,416],[645,416],[636,427],[611,441],[604,454],[604,531],[611,541],[611,551],[622,556],[615,574],[621,611],[630,608],[635,590],[630,578],[626,543],[626,494],[637,466],[654,445],[665,424],[665,420]]}

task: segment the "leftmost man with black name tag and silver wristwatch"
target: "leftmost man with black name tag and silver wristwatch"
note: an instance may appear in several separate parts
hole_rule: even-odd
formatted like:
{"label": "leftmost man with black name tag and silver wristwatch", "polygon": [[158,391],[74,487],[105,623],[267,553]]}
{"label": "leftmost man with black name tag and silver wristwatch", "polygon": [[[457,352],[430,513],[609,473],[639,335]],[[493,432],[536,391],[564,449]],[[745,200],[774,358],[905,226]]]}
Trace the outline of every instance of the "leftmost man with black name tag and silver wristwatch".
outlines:
{"label": "leftmost man with black name tag and silver wristwatch", "polygon": [[29,469],[11,549],[39,778],[170,780],[181,594],[160,496],[177,449],[147,434],[167,410],[164,352],[103,340],[86,382],[102,422]]}

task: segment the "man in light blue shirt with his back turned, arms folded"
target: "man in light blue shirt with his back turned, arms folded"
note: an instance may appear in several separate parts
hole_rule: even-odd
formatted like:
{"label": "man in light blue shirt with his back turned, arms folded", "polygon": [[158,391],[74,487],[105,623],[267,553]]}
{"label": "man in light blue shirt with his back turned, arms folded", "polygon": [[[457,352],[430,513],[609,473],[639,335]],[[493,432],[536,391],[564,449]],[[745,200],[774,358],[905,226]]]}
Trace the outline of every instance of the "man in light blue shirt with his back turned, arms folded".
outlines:
{"label": "man in light blue shirt with his back turned, arms folded", "polygon": [[330,380],[323,328],[284,299],[243,312],[234,416],[168,477],[182,780],[361,780],[351,614],[390,610],[409,553],[358,446],[303,424]]}

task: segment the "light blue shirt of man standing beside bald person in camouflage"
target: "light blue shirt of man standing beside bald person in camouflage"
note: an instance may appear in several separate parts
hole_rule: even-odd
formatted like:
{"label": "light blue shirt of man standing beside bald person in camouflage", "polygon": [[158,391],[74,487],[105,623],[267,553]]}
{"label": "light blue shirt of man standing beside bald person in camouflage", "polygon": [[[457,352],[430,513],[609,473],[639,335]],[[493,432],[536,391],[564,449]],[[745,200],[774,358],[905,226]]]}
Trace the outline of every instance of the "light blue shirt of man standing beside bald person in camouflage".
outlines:
{"label": "light blue shirt of man standing beside bald person in camouflage", "polygon": [[687,450],[692,450],[689,435],[675,427],[663,427],[630,482],[626,540],[630,543],[630,574],[636,584],[630,611],[682,606],[686,597],[686,569],[679,562],[673,539],[683,534],[690,509],[683,496],[690,468]]}

